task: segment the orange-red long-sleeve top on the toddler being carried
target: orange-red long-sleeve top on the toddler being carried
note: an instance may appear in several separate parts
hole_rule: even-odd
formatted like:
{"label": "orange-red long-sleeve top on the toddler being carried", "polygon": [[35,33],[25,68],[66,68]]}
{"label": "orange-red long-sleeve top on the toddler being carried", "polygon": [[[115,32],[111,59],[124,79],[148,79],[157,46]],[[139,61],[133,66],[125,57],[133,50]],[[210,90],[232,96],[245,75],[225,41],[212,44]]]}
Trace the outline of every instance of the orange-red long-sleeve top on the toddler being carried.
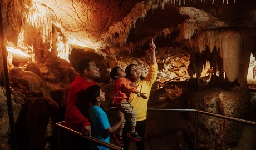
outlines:
{"label": "orange-red long-sleeve top on the toddler being carried", "polygon": [[121,103],[128,101],[131,93],[138,93],[139,91],[131,86],[131,81],[127,78],[119,78],[113,84],[114,91],[116,93],[113,104],[115,102]]}

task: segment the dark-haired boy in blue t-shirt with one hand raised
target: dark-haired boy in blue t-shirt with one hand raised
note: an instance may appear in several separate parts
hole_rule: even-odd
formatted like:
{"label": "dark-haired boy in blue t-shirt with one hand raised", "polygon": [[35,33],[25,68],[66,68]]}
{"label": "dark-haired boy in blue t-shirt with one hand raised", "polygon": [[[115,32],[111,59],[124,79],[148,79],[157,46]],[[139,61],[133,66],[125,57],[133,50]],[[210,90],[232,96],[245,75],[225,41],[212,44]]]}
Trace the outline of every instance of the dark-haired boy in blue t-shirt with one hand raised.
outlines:
{"label": "dark-haired boy in blue t-shirt with one hand raised", "polygon": [[[105,93],[102,91],[100,86],[93,85],[88,87],[86,90],[80,91],[79,94],[83,94],[84,98],[88,98],[88,100],[92,103],[89,108],[89,121],[91,123],[91,136],[98,138],[104,142],[109,143],[110,134],[115,133],[121,126],[121,123],[124,121],[124,114],[119,111],[118,116],[120,121],[115,124],[115,126],[111,127],[109,123],[109,119],[107,118],[107,114],[100,107],[101,103],[105,101]],[[80,99],[79,99],[80,100]],[[80,101],[83,102],[83,101]],[[82,103],[80,103],[82,106]],[[82,111],[82,107],[80,107]],[[82,113],[82,112],[81,112]],[[104,146],[97,145],[94,142],[90,143],[90,149],[108,149]]]}

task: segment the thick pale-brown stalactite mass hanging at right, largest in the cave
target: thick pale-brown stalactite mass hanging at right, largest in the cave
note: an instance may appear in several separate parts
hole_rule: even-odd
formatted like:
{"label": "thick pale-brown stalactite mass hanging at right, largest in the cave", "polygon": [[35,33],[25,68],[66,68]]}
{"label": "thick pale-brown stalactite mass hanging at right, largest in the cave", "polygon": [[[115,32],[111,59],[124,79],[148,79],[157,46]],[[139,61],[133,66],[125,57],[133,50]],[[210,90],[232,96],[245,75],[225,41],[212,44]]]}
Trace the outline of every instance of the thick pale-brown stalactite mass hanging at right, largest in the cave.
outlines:
{"label": "thick pale-brown stalactite mass hanging at right, largest in the cave", "polygon": [[[213,52],[214,47],[220,49],[219,54],[223,59],[223,69],[229,81],[238,79],[240,57],[243,49],[243,33],[235,31],[207,31],[195,39],[190,39],[190,47],[198,49],[198,53],[205,51],[206,46]],[[232,45],[230,47],[230,45]]]}

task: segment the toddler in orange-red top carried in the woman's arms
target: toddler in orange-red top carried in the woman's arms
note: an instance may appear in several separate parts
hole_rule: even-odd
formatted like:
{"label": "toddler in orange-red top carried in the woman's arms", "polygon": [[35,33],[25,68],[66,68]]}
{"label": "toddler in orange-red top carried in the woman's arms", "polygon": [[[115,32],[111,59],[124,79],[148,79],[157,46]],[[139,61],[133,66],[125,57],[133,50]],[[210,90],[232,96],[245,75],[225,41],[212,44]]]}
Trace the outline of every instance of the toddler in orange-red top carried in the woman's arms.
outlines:
{"label": "toddler in orange-red top carried in the woman's arms", "polygon": [[[113,88],[116,95],[113,99],[113,104],[125,114],[126,119],[129,119],[131,123],[131,131],[127,133],[127,136],[135,141],[140,141],[141,136],[135,131],[137,112],[134,107],[131,106],[128,99],[131,93],[136,93],[137,96],[144,99],[146,99],[147,96],[145,96],[145,93],[140,93],[134,86],[132,86],[132,82],[125,78],[125,76],[125,71],[120,67],[114,67],[110,71],[110,77],[115,81]],[[122,141],[122,130],[124,129],[125,122],[125,120],[122,122],[120,131],[113,135],[117,143],[121,146],[124,145],[124,142]]]}

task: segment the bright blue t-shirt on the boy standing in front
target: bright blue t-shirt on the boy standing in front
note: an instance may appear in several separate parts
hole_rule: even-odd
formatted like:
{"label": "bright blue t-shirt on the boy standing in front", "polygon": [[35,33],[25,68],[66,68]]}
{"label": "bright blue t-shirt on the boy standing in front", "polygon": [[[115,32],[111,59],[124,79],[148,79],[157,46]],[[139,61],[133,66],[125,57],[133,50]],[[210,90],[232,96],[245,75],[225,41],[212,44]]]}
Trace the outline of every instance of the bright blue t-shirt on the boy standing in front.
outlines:
{"label": "bright blue t-shirt on the boy standing in front", "polygon": [[[109,143],[109,133],[106,131],[110,127],[107,114],[101,107],[91,105],[89,108],[89,120],[91,123],[91,136]],[[94,142],[90,142],[91,149],[109,149],[104,146],[99,146]]]}

